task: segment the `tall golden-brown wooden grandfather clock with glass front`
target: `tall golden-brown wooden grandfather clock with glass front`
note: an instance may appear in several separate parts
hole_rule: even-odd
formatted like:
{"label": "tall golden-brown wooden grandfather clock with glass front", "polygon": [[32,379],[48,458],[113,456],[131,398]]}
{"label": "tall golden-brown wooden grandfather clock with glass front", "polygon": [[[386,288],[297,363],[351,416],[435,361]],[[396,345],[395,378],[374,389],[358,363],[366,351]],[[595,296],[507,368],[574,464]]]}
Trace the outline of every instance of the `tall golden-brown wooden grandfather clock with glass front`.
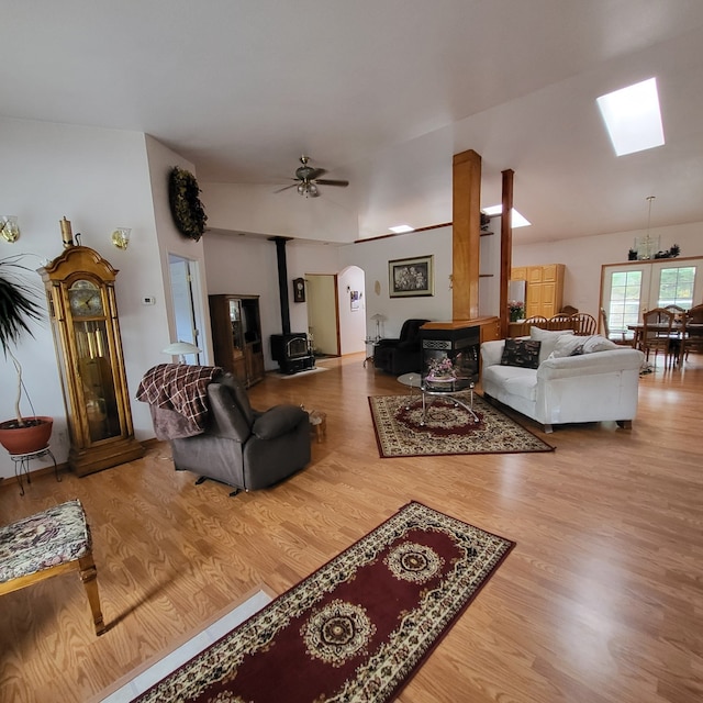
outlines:
{"label": "tall golden-brown wooden grandfather clock with glass front", "polygon": [[137,459],[144,447],[132,425],[114,295],[118,271],[93,249],[74,246],[71,237],[64,237],[64,246],[40,274],[68,415],[68,464],[86,476]]}

